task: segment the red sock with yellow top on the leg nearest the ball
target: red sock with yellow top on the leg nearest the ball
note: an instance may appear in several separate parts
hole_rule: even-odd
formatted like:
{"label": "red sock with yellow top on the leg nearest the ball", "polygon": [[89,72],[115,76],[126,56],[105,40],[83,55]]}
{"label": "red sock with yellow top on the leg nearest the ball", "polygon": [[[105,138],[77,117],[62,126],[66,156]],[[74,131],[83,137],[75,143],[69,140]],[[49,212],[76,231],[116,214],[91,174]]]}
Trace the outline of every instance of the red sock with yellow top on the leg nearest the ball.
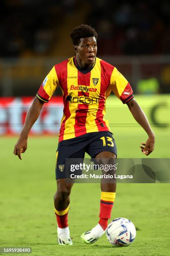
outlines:
{"label": "red sock with yellow top on the leg nearest the ball", "polygon": [[115,192],[101,192],[99,224],[103,230],[107,228],[108,219],[111,218],[115,195]]}

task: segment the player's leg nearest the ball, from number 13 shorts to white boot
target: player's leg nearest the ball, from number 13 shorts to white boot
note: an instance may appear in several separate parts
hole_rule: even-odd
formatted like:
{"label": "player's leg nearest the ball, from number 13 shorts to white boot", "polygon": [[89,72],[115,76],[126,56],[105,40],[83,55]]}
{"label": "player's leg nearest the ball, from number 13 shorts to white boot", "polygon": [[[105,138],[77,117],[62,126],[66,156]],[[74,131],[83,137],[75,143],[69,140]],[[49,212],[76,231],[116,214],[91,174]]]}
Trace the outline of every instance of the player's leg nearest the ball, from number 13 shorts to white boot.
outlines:
{"label": "player's leg nearest the ball, from number 13 shorts to white boot", "polygon": [[[99,139],[98,139],[98,138]],[[105,141],[108,143],[101,143],[103,142],[105,137]],[[102,140],[101,140],[102,139]],[[114,139],[112,138],[111,133],[102,132],[97,134],[93,143],[91,143],[91,148],[89,148],[89,154],[95,161],[100,165],[105,164],[115,164],[116,156],[117,156],[117,148]],[[107,151],[108,150],[108,151]],[[98,153],[98,154],[95,154]],[[112,174],[114,177],[115,170],[112,169],[107,174]],[[104,171],[102,171],[104,174]],[[105,173],[106,174],[106,173]],[[89,231],[86,231],[82,234],[81,238],[82,241],[85,243],[94,243],[97,241],[104,233],[107,228],[108,219],[111,216],[111,211],[113,207],[113,202],[115,200],[115,192],[116,192],[116,181],[115,179],[101,180],[101,197],[100,197],[100,220],[97,225]]]}

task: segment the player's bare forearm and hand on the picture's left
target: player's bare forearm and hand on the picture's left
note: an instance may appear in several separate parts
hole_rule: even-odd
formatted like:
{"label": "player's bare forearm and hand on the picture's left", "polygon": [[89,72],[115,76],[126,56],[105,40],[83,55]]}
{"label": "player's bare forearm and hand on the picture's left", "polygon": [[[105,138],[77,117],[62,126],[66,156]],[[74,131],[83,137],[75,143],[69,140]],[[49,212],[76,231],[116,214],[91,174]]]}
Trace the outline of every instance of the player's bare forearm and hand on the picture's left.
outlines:
{"label": "player's bare forearm and hand on the picture's left", "polygon": [[22,159],[21,153],[24,153],[27,149],[27,139],[28,139],[28,134],[30,132],[30,129],[32,128],[35,121],[39,117],[42,106],[43,106],[43,103],[40,102],[40,100],[38,100],[37,97],[35,97],[32,103],[32,106],[30,107],[28,114],[26,116],[23,130],[20,133],[20,137],[17,143],[15,144],[15,148],[14,148],[14,154],[18,156],[20,160]]}

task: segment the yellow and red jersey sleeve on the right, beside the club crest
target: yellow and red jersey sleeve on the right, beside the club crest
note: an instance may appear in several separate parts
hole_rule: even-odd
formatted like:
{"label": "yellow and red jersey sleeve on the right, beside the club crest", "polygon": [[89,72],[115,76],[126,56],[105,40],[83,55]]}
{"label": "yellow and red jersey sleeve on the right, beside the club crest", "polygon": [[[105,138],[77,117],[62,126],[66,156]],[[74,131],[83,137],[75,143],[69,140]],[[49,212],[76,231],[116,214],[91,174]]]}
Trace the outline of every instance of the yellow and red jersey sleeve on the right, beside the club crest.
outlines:
{"label": "yellow and red jersey sleeve on the right, beside the club crest", "polygon": [[[116,69],[113,69],[110,78],[110,89],[119,98],[123,104],[133,99],[133,90],[128,81],[123,75]],[[110,91],[111,91],[110,90]]]}

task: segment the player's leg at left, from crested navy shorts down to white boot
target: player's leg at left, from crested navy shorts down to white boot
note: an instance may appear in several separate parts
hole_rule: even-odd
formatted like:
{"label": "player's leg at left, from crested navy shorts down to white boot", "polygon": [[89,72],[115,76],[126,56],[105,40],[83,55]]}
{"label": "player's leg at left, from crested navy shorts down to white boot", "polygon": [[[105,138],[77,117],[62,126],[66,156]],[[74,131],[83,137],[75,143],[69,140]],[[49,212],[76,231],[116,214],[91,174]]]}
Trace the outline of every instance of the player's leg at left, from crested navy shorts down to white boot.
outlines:
{"label": "player's leg at left, from crested navy shorts down to white boot", "polygon": [[[84,138],[85,141],[85,138]],[[56,180],[57,192],[54,195],[55,215],[57,219],[57,236],[60,245],[72,245],[70,230],[68,227],[68,211],[70,205],[70,193],[74,180],[69,179],[69,171],[66,159],[83,159],[85,149],[83,138],[73,138],[61,141],[56,153]],[[76,161],[76,160],[75,160]],[[66,169],[67,168],[67,169]]]}

